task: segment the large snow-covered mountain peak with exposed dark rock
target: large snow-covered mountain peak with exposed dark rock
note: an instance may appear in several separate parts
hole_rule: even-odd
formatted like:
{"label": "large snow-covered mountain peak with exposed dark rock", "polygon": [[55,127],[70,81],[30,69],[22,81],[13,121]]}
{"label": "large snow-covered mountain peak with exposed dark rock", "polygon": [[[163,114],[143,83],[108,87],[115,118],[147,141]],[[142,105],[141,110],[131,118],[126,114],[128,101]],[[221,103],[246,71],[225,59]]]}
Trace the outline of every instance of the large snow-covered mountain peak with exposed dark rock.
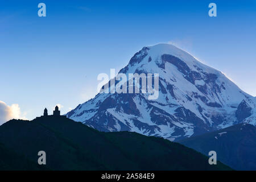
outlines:
{"label": "large snow-covered mountain peak with exposed dark rock", "polygon": [[[159,97],[148,93],[99,93],[67,117],[100,131],[135,131],[170,140],[223,129],[256,125],[256,99],[223,73],[170,44],[143,47],[121,69],[158,73]],[[115,81],[115,85],[119,81]],[[108,83],[112,88],[110,82]]]}

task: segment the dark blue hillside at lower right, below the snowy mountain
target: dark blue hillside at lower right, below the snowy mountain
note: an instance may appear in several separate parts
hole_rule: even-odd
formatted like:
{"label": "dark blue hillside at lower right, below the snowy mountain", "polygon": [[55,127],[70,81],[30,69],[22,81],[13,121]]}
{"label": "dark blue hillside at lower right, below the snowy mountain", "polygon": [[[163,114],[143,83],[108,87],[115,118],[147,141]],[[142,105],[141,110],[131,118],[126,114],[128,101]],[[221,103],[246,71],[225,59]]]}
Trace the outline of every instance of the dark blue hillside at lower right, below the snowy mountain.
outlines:
{"label": "dark blue hillside at lower right, below the snowy mountain", "polygon": [[240,123],[179,141],[202,154],[216,151],[217,159],[236,170],[256,170],[256,127]]}

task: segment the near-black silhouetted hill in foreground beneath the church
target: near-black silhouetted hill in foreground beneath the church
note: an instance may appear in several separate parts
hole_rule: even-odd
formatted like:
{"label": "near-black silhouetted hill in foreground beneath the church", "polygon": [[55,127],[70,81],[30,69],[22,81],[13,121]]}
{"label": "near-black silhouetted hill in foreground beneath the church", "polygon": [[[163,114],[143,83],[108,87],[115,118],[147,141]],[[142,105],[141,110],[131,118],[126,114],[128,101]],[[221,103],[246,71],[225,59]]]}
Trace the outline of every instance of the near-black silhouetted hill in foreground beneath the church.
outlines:
{"label": "near-black silhouetted hill in foreground beneath the church", "polygon": [[[229,170],[169,140],[128,131],[104,133],[68,118],[11,120],[0,126],[0,169]],[[38,151],[46,151],[39,166]],[[2,155],[1,155],[2,156]],[[19,157],[18,157],[19,156]]]}

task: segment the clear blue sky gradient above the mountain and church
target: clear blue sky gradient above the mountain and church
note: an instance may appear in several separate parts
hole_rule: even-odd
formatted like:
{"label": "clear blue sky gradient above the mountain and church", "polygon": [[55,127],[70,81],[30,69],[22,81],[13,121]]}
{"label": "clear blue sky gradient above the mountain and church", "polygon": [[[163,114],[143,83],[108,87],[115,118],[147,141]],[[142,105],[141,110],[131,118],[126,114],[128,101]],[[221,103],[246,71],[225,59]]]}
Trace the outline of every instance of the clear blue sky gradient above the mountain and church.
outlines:
{"label": "clear blue sky gradient above the mountain and church", "polygon": [[[217,17],[208,16],[210,2]],[[256,1],[1,1],[0,101],[28,119],[56,104],[64,114],[95,96],[99,73],[157,43],[175,44],[256,96],[255,32]]]}

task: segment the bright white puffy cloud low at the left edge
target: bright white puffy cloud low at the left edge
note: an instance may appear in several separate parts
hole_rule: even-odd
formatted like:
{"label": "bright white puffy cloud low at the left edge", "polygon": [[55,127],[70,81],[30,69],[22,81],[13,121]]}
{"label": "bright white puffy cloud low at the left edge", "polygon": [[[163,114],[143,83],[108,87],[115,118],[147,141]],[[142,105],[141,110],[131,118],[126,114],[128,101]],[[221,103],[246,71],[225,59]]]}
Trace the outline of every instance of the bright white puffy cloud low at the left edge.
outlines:
{"label": "bright white puffy cloud low at the left edge", "polygon": [[20,107],[18,104],[13,104],[11,106],[5,104],[5,102],[0,101],[0,125],[9,121],[10,119],[26,119],[24,115],[22,116]]}

